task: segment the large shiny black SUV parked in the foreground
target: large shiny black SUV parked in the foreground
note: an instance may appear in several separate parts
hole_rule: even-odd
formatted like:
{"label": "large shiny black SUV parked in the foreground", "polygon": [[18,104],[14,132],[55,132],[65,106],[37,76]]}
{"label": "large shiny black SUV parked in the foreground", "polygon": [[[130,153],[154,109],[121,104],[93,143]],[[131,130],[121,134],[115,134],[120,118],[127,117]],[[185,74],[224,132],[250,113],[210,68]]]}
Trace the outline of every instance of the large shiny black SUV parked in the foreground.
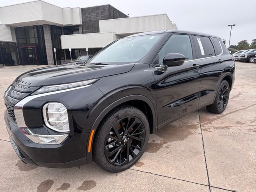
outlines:
{"label": "large shiny black SUV parked in the foreground", "polygon": [[84,64],[26,72],[4,92],[19,158],[38,166],[88,164],[120,172],[150,133],[204,106],[222,113],[235,62],[218,36],[181,30],[119,39]]}

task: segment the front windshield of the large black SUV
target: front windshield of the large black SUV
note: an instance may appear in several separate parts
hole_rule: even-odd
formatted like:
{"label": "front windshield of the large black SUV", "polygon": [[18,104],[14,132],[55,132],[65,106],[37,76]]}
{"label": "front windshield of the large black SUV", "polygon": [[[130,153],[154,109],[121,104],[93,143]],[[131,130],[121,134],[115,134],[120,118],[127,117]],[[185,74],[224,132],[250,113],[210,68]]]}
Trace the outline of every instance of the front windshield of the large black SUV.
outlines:
{"label": "front windshield of the large black SUV", "polygon": [[160,34],[151,34],[122,38],[106,47],[89,60],[93,63],[125,64],[141,60],[154,44],[160,39]]}

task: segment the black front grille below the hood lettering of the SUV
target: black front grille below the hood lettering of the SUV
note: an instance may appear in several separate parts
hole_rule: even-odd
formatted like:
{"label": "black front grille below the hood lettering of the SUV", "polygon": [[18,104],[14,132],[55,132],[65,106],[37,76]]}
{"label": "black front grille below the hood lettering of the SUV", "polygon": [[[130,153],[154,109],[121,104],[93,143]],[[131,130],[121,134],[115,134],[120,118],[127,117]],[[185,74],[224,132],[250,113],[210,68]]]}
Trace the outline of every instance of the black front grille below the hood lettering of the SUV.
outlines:
{"label": "black front grille below the hood lettering of the SUV", "polygon": [[[4,103],[6,105],[6,109],[8,115],[12,120],[16,121],[14,114],[14,106],[23,98],[28,96],[31,92],[38,89],[38,87],[34,86],[23,86],[16,82],[13,82],[11,88],[8,90],[8,94],[4,97]],[[5,93],[6,94],[6,93]]]}

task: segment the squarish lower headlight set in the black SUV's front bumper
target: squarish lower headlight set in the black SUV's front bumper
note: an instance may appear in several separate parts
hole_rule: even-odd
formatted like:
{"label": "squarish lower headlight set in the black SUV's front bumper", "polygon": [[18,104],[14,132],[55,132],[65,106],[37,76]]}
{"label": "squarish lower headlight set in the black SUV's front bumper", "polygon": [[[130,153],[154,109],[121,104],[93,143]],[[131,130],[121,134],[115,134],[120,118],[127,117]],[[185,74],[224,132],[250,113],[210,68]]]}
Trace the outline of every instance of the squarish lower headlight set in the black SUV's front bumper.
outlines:
{"label": "squarish lower headlight set in the black SUV's front bumper", "polygon": [[46,103],[43,106],[45,125],[58,132],[69,132],[68,112],[66,107],[57,102]]}

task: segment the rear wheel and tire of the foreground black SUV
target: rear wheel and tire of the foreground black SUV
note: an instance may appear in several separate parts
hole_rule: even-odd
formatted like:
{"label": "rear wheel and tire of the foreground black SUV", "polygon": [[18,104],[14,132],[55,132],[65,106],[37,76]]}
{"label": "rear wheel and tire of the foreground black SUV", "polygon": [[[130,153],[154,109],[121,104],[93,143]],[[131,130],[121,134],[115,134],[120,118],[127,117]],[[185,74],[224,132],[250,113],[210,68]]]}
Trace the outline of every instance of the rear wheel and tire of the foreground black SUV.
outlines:
{"label": "rear wheel and tire of the foreground black SUV", "polygon": [[211,113],[220,114],[224,112],[228,105],[230,87],[226,80],[223,80],[217,89],[217,94],[214,103],[206,106],[206,109]]}

